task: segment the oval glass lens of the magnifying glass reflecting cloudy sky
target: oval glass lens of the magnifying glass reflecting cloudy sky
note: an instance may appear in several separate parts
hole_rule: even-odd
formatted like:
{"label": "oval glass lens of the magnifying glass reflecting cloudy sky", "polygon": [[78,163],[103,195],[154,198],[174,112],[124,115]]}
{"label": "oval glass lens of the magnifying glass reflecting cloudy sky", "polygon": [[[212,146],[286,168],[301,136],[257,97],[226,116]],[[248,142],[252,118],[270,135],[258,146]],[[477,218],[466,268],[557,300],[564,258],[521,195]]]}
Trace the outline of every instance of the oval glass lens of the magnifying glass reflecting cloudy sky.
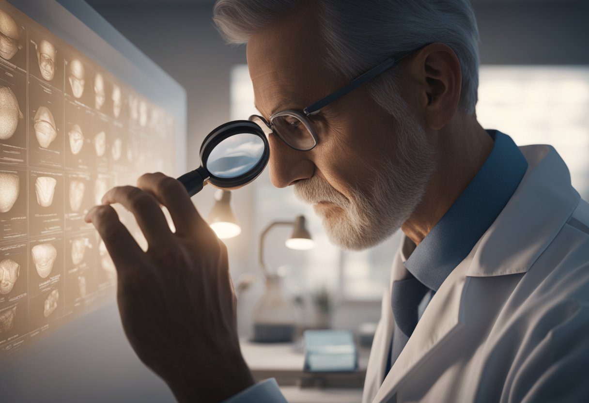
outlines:
{"label": "oval glass lens of the magnifying glass reflecting cloudy sky", "polygon": [[251,133],[234,134],[213,148],[207,158],[206,169],[218,178],[240,177],[260,162],[264,148],[260,136]]}

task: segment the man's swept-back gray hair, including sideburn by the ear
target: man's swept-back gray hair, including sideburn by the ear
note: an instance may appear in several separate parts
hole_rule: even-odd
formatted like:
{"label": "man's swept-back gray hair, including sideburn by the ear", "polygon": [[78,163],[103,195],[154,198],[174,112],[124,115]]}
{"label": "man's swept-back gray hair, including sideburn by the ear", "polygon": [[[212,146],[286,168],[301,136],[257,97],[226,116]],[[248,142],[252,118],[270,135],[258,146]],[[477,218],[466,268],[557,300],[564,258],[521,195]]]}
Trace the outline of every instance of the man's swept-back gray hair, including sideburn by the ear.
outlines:
{"label": "man's swept-back gray hair, including sideburn by the ear", "polygon": [[[454,50],[462,69],[459,109],[473,115],[478,90],[478,28],[468,0],[316,0],[323,62],[351,80],[392,55],[431,42]],[[217,0],[214,21],[233,44],[242,44],[302,0]],[[395,69],[369,82],[369,93],[396,115],[403,103]]]}

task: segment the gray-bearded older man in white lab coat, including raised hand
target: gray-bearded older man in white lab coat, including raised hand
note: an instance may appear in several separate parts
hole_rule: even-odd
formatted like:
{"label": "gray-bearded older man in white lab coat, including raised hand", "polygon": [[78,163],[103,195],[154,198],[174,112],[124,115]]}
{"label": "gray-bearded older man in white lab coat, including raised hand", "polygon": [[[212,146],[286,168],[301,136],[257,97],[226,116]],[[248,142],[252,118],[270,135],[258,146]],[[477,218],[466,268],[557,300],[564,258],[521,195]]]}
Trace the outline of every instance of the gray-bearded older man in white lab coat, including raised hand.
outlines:
{"label": "gray-bearded older man in white lab coat, including raised hand", "polygon": [[[336,245],[405,234],[363,401],[587,401],[589,205],[554,148],[477,122],[468,2],[219,0],[215,14],[247,42],[273,184],[312,203]],[[87,220],[143,362],[179,401],[284,401],[275,381],[254,385],[226,249],[180,183],[147,174],[102,201]],[[112,203],[135,214],[146,253]]]}

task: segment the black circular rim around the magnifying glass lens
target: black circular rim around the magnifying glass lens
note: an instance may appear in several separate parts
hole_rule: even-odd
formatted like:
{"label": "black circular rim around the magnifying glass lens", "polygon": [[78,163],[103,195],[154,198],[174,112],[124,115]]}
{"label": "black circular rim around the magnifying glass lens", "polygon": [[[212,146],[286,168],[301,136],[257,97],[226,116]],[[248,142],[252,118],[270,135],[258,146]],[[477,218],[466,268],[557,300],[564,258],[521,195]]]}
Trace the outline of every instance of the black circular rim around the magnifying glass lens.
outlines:
{"label": "black circular rim around the magnifying glass lens", "polygon": [[[247,173],[244,173],[238,177],[220,178],[211,174],[207,169],[207,160],[209,159],[211,151],[213,151],[214,148],[217,147],[217,145],[219,145],[219,143],[221,143],[221,141],[225,140],[226,138],[236,134],[244,133],[254,134],[255,136],[262,138],[262,141],[264,142],[264,152],[262,154],[262,158],[260,158],[260,161],[258,161],[258,163],[252,169],[247,171]],[[201,166],[204,167],[204,169],[206,169],[209,173],[209,182],[214,184],[214,186],[219,187],[236,187],[253,181],[262,173],[266,167],[266,164],[268,163],[269,158],[270,147],[268,144],[268,139],[266,138],[266,134],[259,125],[249,120],[234,120],[220,125],[215,130],[211,131],[209,136],[204,138],[203,144],[200,146]]]}

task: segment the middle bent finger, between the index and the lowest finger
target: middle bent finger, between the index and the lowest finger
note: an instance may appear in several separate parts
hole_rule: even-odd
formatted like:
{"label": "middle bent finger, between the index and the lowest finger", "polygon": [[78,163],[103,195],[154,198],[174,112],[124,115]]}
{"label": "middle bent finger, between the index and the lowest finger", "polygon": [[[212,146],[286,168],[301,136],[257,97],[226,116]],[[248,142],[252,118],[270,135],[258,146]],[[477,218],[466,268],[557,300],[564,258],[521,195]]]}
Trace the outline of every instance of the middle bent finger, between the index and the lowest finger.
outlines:
{"label": "middle bent finger, between the index and the lowest finger", "polygon": [[102,196],[102,203],[120,203],[133,213],[150,248],[170,246],[173,243],[166,217],[151,194],[134,186],[117,186]]}

